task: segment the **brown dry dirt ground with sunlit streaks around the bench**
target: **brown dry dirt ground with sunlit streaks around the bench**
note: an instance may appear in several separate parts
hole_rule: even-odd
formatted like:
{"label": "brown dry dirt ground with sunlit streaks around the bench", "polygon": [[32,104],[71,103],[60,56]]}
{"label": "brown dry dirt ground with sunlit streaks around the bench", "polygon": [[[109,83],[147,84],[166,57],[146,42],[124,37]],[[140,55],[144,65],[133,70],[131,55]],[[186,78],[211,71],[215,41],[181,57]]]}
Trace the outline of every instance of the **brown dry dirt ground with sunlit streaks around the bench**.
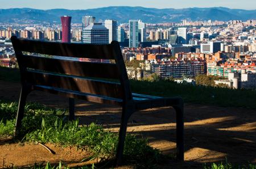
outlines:
{"label": "brown dry dirt ground with sunlit streaks around the bench", "polygon": [[[18,100],[19,90],[19,83],[0,81],[0,99]],[[38,91],[31,92],[28,101],[68,108],[67,98]],[[81,124],[97,122],[114,132],[118,131],[120,110],[119,107],[76,100],[76,117]],[[184,122],[185,162],[170,160],[160,168],[202,168],[205,162],[225,162],[225,157],[236,164],[256,163],[256,110],[185,104]],[[175,125],[174,109],[155,108],[131,116],[127,130],[148,138],[150,145],[164,154],[174,154]],[[74,147],[48,146],[55,155],[32,143],[2,144],[0,167],[3,167],[3,159],[7,166],[23,166],[43,161],[78,162],[88,155]]]}

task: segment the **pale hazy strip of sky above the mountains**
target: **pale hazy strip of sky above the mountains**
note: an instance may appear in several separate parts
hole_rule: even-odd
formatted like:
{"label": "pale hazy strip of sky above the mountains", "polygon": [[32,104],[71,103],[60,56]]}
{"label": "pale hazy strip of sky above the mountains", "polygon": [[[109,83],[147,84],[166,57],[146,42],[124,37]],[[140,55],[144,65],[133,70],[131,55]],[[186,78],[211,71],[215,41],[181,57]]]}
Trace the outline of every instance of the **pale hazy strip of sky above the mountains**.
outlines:
{"label": "pale hazy strip of sky above the mountains", "polygon": [[143,6],[182,9],[187,7],[229,7],[256,9],[256,0],[0,0],[0,9],[30,7],[34,9],[93,9],[106,6]]}

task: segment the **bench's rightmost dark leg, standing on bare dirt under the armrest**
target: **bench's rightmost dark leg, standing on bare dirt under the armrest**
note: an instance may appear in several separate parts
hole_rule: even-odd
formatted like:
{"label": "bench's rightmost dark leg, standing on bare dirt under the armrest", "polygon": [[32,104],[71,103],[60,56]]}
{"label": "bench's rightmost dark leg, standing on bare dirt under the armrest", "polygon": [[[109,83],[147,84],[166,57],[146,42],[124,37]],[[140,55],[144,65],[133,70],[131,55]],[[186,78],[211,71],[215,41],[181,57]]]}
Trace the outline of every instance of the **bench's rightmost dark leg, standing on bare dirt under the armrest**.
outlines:
{"label": "bench's rightmost dark leg, standing on bare dirt under the armrest", "polygon": [[180,104],[174,106],[176,111],[176,149],[177,159],[184,160],[184,119],[183,119],[183,100],[180,100]]}

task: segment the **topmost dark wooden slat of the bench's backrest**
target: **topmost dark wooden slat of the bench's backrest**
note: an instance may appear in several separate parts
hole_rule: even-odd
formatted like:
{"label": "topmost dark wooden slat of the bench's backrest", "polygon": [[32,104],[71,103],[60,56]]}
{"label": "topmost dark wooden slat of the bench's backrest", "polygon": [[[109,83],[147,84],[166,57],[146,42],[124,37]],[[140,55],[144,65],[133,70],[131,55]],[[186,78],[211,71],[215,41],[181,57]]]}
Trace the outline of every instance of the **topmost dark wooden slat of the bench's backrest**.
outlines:
{"label": "topmost dark wooden slat of the bench's backrest", "polygon": [[53,56],[82,57],[114,60],[115,52],[111,44],[93,45],[82,43],[56,43],[26,39],[12,39],[23,52],[48,54]]}

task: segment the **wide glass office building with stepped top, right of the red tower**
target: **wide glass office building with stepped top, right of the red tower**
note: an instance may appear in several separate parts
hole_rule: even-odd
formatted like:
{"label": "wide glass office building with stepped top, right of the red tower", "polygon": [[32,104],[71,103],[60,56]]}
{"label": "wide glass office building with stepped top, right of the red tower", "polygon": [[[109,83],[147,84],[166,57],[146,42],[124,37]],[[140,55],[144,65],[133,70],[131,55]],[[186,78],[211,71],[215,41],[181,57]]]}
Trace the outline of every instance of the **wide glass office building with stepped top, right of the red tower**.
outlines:
{"label": "wide glass office building with stepped top, right of the red tower", "polygon": [[108,44],[109,29],[102,23],[91,23],[82,33],[82,42],[86,44]]}

